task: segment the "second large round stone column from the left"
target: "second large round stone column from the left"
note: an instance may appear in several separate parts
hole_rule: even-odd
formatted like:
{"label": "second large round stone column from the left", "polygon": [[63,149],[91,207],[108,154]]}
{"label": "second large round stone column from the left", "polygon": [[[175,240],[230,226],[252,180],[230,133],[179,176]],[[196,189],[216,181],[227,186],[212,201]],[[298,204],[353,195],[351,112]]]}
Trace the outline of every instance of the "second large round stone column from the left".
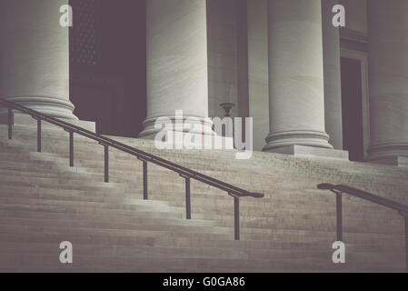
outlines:
{"label": "second large round stone column from the left", "polygon": [[[208,116],[207,20],[205,0],[147,0],[147,118],[152,138],[158,117],[176,110],[212,133]],[[195,125],[194,125],[195,126]],[[176,129],[175,129],[176,130]],[[185,128],[184,128],[185,131]]]}

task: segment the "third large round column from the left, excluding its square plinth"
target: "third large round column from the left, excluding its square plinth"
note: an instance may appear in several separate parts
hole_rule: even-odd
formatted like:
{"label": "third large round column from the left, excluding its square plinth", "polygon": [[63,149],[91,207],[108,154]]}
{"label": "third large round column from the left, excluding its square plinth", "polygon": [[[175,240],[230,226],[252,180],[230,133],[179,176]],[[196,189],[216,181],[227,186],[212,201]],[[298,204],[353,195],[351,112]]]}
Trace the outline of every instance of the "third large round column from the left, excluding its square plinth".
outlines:
{"label": "third large round column from the left, excluding its square plinth", "polygon": [[269,0],[270,134],[264,151],[332,149],[324,127],[321,0]]}

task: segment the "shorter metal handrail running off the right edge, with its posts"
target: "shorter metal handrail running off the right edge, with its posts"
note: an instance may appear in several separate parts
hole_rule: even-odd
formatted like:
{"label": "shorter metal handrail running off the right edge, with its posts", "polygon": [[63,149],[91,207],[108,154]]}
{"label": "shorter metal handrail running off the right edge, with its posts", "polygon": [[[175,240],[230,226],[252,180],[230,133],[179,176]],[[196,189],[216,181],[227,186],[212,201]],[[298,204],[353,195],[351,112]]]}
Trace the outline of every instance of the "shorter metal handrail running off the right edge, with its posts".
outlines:
{"label": "shorter metal handrail running off the right edge, with its posts", "polygon": [[408,206],[393,200],[373,195],[363,190],[353,188],[351,186],[333,185],[333,184],[319,184],[317,186],[321,190],[330,190],[336,195],[336,216],[337,216],[337,240],[343,241],[343,205],[342,195],[343,193],[349,194],[367,200],[377,204],[379,206],[385,206],[398,212],[403,216],[405,221],[405,270],[408,272]]}

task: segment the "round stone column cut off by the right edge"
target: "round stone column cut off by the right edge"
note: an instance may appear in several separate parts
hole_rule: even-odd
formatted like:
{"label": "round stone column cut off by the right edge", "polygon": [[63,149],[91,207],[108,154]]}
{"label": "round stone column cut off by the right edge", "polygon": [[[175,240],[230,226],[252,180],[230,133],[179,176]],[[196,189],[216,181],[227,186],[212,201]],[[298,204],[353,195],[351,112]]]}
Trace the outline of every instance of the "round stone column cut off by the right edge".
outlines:
{"label": "round stone column cut off by the right edge", "polygon": [[368,5],[371,146],[369,160],[408,157],[408,25],[406,0]]}

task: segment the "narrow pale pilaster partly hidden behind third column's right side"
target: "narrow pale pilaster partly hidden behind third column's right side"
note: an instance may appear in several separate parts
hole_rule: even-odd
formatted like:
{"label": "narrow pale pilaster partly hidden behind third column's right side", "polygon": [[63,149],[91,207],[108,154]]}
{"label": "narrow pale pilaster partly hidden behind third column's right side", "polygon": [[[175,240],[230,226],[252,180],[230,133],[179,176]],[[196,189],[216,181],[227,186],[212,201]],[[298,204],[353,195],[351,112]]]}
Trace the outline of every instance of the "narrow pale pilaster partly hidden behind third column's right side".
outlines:
{"label": "narrow pale pilaster partly hidden behind third column's right side", "polygon": [[322,0],[324,117],[330,144],[343,149],[342,76],[339,27],[334,27],[333,6],[338,0]]}

